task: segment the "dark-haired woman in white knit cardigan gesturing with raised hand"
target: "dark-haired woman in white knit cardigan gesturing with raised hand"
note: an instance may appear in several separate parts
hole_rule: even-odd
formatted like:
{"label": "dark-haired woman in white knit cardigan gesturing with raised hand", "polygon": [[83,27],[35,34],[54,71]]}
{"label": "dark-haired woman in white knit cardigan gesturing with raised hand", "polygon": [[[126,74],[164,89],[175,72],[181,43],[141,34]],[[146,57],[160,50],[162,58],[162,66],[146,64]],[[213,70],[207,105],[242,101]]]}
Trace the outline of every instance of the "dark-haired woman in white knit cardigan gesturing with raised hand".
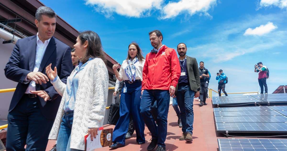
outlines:
{"label": "dark-haired woman in white knit cardigan gesturing with raised hand", "polygon": [[96,137],[103,125],[108,97],[108,70],[104,63],[100,37],[93,31],[81,33],[76,40],[75,55],[79,65],[63,83],[57,68],[46,67],[46,74],[63,96],[49,139],[57,140],[57,151],[85,150],[84,136]]}

